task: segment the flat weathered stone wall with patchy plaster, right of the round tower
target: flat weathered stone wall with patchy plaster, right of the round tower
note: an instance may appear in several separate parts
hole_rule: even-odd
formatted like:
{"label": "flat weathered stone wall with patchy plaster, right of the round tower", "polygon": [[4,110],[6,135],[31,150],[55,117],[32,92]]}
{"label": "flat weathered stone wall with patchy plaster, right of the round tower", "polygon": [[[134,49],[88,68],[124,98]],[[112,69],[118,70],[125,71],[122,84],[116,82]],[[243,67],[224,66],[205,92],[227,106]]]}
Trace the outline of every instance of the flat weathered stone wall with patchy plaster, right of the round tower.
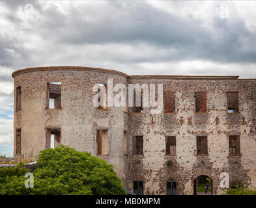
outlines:
{"label": "flat weathered stone wall with patchy plaster, right of the round tower", "polygon": [[[178,194],[193,194],[199,175],[213,180],[214,194],[223,194],[220,174],[256,187],[255,175],[255,80],[144,79],[130,77],[128,83],[164,83],[164,91],[175,92],[173,113],[130,114],[128,139],[130,159],[128,188],[144,181],[145,194],[165,194],[165,181],[177,181]],[[239,92],[239,113],[227,112],[226,92]],[[195,112],[195,92],[206,92],[207,111]],[[143,155],[132,155],[132,136],[143,135]],[[208,136],[208,155],[197,155],[196,136]],[[242,156],[229,156],[229,135],[240,135]],[[176,136],[177,155],[165,155],[165,136]],[[172,166],[167,162],[172,161]]]}

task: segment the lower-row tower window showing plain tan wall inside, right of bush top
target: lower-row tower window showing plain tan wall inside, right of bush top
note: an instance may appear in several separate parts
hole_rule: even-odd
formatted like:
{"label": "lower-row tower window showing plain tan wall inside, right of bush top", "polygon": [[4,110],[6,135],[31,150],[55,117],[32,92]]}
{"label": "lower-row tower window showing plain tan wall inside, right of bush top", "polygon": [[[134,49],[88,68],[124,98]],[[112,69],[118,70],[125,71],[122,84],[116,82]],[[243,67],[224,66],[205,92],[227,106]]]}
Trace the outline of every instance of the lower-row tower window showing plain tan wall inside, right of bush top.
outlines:
{"label": "lower-row tower window showing plain tan wall inside, right of bush top", "polygon": [[98,129],[97,136],[97,154],[98,155],[107,155],[108,154],[108,136],[107,130]]}

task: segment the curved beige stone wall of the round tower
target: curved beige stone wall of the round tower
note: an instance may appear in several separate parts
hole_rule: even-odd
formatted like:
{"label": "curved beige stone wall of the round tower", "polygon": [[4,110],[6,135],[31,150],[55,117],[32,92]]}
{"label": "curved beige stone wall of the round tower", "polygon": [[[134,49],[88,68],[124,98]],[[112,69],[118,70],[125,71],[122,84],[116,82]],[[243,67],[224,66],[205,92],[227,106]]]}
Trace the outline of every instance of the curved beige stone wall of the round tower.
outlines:
{"label": "curved beige stone wall of the round tower", "polygon": [[[113,164],[123,179],[122,107],[100,110],[92,105],[92,87],[96,83],[107,84],[107,79],[113,79],[113,85],[127,82],[122,73],[89,68],[35,69],[15,75],[14,92],[21,86],[21,111],[14,112],[14,129],[21,129],[21,157],[38,155],[46,147],[47,128],[61,129],[61,144],[96,155],[97,129],[108,129],[108,155],[100,157]],[[50,82],[61,82],[61,109],[47,108]]]}

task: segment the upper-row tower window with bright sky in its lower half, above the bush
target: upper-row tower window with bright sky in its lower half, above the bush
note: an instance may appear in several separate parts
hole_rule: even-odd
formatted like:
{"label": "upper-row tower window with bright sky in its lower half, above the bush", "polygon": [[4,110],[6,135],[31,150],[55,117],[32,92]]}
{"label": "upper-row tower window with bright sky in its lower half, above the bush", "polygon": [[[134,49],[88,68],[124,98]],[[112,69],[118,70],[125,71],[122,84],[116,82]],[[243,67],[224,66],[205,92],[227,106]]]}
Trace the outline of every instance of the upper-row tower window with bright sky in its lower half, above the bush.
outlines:
{"label": "upper-row tower window with bright sky in its lower half, above the bush", "polygon": [[48,108],[61,109],[61,83],[47,83]]}

